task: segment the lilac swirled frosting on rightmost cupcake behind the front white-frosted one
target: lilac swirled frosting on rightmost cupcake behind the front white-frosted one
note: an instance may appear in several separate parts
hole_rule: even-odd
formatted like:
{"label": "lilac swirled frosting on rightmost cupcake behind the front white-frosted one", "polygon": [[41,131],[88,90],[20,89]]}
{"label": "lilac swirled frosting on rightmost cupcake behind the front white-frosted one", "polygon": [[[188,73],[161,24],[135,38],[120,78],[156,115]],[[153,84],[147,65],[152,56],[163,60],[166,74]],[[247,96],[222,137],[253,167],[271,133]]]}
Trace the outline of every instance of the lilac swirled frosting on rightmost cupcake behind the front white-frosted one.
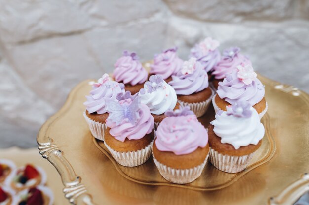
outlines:
{"label": "lilac swirled frosting on rightmost cupcake behind the front white-frosted one", "polygon": [[239,76],[241,77],[239,74],[239,70],[234,70],[224,78],[223,82],[219,82],[217,90],[219,97],[231,105],[237,101],[247,101],[251,106],[260,102],[265,95],[265,89],[261,81],[253,77],[250,80],[251,83],[249,83],[250,81],[246,81],[248,79],[239,78]]}

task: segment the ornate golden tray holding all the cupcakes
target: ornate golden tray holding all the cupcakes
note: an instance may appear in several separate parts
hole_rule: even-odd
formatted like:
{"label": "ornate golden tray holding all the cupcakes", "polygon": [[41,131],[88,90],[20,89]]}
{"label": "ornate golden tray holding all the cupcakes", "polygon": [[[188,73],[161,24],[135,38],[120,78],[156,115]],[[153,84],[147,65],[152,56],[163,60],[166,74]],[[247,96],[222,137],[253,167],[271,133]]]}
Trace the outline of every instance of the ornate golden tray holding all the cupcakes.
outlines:
{"label": "ornate golden tray holding all the cupcakes", "polygon": [[[41,127],[40,154],[58,170],[69,201],[76,205],[292,205],[309,190],[309,95],[263,76],[268,112],[263,144],[250,166],[228,174],[206,165],[202,176],[177,185],[159,175],[154,162],[118,165],[91,136],[83,118],[90,80],[70,93],[63,108]],[[200,121],[214,117],[212,106]]]}

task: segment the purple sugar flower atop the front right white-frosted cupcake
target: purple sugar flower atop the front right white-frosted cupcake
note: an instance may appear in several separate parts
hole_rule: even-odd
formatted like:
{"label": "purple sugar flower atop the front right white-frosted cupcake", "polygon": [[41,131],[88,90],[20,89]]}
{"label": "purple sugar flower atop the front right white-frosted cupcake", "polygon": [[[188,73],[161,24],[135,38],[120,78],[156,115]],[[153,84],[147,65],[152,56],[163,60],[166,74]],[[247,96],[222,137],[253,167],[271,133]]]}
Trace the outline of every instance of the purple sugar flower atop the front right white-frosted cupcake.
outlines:
{"label": "purple sugar flower atop the front right white-frosted cupcake", "polygon": [[233,115],[235,117],[249,118],[252,115],[250,110],[251,105],[246,101],[238,101],[232,106],[227,106],[227,115]]}

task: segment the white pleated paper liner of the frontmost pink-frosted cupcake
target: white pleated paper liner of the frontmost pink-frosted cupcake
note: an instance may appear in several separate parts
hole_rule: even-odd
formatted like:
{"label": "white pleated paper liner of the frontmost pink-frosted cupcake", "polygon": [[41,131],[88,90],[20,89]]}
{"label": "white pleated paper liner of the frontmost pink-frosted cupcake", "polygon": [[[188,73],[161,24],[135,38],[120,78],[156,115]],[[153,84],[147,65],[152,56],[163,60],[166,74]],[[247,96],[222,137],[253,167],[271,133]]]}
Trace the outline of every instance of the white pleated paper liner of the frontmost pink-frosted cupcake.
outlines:
{"label": "white pleated paper liner of the frontmost pink-frosted cupcake", "polygon": [[158,168],[163,178],[165,178],[166,180],[172,183],[187,184],[187,183],[193,182],[195,179],[197,179],[202,174],[202,171],[208,160],[208,156],[209,154],[207,154],[206,159],[201,165],[198,165],[190,169],[174,169],[157,161],[154,155],[153,155],[153,158],[154,158],[154,164]]}

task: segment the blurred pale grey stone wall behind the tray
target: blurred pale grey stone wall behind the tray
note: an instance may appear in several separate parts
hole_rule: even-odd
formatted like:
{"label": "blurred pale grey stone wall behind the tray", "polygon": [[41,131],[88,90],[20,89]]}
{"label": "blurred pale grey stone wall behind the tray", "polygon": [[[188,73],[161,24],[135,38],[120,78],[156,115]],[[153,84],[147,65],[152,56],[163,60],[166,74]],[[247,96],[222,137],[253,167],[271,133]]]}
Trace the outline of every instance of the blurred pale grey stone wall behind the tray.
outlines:
{"label": "blurred pale grey stone wall behind the tray", "polygon": [[205,36],[261,74],[309,92],[309,0],[0,0],[0,148],[36,146],[41,124],[127,49],[141,60]]}

